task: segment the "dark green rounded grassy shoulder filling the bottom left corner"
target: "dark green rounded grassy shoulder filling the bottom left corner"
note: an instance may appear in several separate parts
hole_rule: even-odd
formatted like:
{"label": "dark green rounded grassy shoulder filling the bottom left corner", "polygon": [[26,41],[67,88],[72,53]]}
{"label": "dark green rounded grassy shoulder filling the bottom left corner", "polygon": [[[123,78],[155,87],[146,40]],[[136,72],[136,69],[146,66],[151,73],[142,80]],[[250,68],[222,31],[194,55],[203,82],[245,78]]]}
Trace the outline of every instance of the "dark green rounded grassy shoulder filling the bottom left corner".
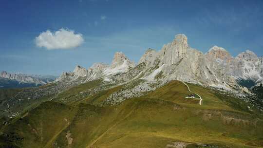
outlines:
{"label": "dark green rounded grassy shoulder filling the bottom left corner", "polygon": [[5,126],[3,132],[7,136],[0,135],[0,141],[6,147],[44,148],[51,145],[56,135],[70,125],[75,112],[74,107],[65,104],[42,103],[23,118]]}

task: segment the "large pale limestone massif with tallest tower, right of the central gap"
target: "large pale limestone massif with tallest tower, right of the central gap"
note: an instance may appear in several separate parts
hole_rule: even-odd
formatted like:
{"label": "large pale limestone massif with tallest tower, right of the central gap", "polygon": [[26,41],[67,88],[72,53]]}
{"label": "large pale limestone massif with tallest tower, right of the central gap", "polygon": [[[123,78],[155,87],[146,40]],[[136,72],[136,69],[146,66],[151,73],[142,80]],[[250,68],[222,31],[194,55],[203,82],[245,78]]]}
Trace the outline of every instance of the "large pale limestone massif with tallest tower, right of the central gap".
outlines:
{"label": "large pale limestone massif with tallest tower, right of the central gap", "polygon": [[[156,62],[158,61],[158,63]],[[139,63],[145,63],[145,77],[152,75],[150,68],[162,67],[167,79],[179,79],[222,88],[237,85],[239,78],[262,79],[262,59],[253,52],[245,51],[232,57],[224,48],[213,46],[206,54],[191,48],[185,35],[163,46],[160,52],[147,50]],[[159,70],[158,70],[159,71]]]}

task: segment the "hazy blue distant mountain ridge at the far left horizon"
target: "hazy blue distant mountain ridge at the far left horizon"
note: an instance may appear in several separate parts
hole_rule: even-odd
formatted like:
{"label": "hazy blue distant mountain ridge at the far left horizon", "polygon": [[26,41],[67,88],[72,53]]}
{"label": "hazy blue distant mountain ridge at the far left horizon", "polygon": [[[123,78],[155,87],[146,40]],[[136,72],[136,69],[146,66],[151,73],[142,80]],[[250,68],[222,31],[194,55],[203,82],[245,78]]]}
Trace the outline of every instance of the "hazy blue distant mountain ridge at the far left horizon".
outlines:
{"label": "hazy blue distant mountain ridge at the far left horizon", "polygon": [[5,71],[2,71],[0,73],[0,87],[21,88],[21,87],[40,86],[50,83],[55,79],[56,79],[55,76],[7,73]]}

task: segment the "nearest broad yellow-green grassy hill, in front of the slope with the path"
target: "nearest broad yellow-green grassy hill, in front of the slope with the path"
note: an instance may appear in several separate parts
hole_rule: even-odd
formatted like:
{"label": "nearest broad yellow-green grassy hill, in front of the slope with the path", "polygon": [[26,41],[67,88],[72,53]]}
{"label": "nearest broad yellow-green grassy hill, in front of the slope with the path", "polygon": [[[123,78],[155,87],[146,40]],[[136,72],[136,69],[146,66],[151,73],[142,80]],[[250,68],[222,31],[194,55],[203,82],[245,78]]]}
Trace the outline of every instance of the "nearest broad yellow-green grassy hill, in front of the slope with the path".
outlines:
{"label": "nearest broad yellow-green grassy hill, in front of the slope with the path", "polygon": [[[65,138],[68,131],[73,138],[73,148],[160,148],[177,140],[223,143],[241,148],[249,147],[245,145],[247,143],[256,145],[256,141],[263,137],[262,121],[254,125],[253,116],[197,111],[159,99],[134,98],[119,106],[99,108],[99,111],[91,111],[93,108],[81,105],[73,123],[59,136],[57,143],[68,146]],[[218,112],[221,115],[216,115]],[[209,113],[211,118],[204,117]],[[235,116],[251,123],[225,123],[224,117]]]}

